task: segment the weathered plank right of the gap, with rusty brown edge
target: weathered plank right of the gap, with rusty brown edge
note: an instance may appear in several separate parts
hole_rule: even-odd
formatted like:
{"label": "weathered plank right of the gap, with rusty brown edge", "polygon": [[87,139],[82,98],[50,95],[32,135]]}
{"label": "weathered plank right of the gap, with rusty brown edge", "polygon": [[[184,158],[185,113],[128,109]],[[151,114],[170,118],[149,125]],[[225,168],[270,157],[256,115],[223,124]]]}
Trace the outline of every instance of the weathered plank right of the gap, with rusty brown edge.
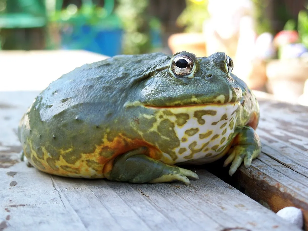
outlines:
{"label": "weathered plank right of the gap, with rusty brown edge", "polygon": [[249,197],[274,212],[301,208],[308,230],[308,107],[258,97],[262,154],[235,179]]}

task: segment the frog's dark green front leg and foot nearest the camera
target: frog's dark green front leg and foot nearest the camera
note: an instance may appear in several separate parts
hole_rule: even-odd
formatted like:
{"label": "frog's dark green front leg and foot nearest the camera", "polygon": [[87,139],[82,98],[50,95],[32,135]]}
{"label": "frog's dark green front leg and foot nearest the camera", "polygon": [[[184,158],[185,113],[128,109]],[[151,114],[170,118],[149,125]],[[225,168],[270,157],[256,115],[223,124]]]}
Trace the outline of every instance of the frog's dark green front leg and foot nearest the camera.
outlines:
{"label": "frog's dark green front leg and foot nearest the camera", "polygon": [[129,151],[115,158],[110,172],[104,172],[108,180],[130,183],[162,183],[180,181],[190,184],[189,179],[197,180],[199,176],[187,169],[164,164],[146,156],[147,148]]}

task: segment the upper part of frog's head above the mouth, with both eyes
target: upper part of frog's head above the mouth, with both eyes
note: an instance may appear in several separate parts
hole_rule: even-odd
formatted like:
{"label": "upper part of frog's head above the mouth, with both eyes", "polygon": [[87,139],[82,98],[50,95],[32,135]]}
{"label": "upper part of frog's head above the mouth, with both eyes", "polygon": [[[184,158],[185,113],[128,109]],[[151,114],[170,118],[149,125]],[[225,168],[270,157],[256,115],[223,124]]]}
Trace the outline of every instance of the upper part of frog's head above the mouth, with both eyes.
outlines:
{"label": "upper part of frog's head above the mouth, with both eyes", "polygon": [[140,102],[150,107],[238,102],[242,90],[230,75],[232,69],[233,61],[225,53],[197,58],[178,52],[155,64],[141,84]]}

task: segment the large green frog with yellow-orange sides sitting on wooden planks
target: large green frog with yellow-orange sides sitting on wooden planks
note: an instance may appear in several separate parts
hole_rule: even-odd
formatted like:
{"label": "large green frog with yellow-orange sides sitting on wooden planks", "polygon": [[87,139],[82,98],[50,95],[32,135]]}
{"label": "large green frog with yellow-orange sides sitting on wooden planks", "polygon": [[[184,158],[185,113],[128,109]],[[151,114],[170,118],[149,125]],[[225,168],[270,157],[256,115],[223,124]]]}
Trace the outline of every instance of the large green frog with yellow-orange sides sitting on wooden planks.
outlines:
{"label": "large green frog with yellow-orange sides sitting on wooden planks", "polygon": [[[115,55],[50,83],[18,126],[24,156],[51,175],[191,184],[226,158],[232,176],[261,152],[259,104],[224,52]],[[42,76],[43,78],[44,76]]]}

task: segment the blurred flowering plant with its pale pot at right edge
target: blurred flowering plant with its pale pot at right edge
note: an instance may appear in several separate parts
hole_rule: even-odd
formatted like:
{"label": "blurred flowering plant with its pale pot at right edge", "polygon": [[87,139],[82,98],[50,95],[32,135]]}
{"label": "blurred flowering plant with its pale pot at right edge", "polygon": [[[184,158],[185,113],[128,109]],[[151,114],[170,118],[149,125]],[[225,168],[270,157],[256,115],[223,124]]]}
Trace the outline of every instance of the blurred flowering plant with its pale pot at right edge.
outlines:
{"label": "blurred flowering plant with its pale pot at right edge", "polygon": [[289,20],[284,30],[274,37],[278,59],[271,60],[266,67],[267,88],[277,98],[297,102],[308,78],[308,13],[301,10],[298,23]]}

